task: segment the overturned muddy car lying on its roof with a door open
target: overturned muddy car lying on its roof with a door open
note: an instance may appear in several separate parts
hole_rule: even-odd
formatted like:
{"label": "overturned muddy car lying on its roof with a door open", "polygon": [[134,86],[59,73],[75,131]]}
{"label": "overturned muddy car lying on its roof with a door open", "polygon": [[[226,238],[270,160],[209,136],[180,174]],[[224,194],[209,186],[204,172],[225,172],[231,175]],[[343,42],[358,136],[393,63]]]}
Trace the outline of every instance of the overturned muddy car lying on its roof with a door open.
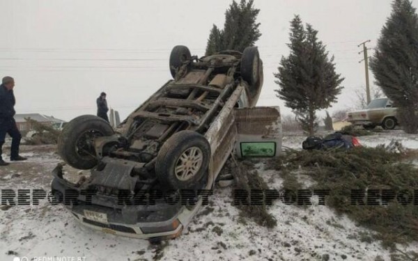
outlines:
{"label": "overturned muddy car lying on its roof with a door open", "polygon": [[[77,221],[127,237],[176,237],[203,204],[199,191],[212,189],[232,153],[274,157],[281,151],[279,108],[255,107],[263,85],[256,47],[199,58],[176,46],[169,69],[173,80],[116,131],[88,115],[64,127],[62,159],[91,169],[77,183],[65,180],[62,165],[53,171],[54,196]],[[175,200],[182,191],[187,200]]]}

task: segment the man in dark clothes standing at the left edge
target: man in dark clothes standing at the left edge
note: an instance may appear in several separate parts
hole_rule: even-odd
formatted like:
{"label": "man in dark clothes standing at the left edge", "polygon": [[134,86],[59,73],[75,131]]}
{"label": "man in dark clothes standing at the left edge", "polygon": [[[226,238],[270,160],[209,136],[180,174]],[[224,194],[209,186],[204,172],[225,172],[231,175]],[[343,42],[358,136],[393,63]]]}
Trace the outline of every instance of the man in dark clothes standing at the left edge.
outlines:
{"label": "man in dark clothes standing at the left edge", "polygon": [[15,119],[15,95],[13,88],[15,80],[12,77],[3,77],[0,85],[0,166],[7,166],[8,163],[1,157],[1,147],[4,144],[6,134],[12,137],[12,148],[10,151],[10,161],[21,161],[26,158],[19,155],[19,145],[22,135],[17,129]]}

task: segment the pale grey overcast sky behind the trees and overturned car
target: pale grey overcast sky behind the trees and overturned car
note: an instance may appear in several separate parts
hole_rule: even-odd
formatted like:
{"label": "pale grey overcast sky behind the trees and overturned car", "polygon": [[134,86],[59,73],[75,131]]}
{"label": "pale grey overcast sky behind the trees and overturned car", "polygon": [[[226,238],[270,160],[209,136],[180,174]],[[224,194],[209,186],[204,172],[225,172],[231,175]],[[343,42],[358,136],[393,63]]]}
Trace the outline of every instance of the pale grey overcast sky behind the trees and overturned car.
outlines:
{"label": "pale grey overcast sky behind the trees and overturned car", "polygon": [[[169,54],[187,45],[203,56],[212,24],[222,27],[231,0],[0,0],[0,74],[15,77],[17,113],[63,120],[95,114],[95,99],[125,118],[171,79]],[[353,107],[365,86],[360,42],[373,48],[391,12],[389,0],[256,0],[256,43],[265,81],[258,105],[279,105],[273,73],[287,55],[295,14],[318,30],[346,80],[330,111]],[[413,3],[414,6],[417,3]],[[373,54],[370,50],[369,54]],[[371,74],[371,85],[373,74]]]}

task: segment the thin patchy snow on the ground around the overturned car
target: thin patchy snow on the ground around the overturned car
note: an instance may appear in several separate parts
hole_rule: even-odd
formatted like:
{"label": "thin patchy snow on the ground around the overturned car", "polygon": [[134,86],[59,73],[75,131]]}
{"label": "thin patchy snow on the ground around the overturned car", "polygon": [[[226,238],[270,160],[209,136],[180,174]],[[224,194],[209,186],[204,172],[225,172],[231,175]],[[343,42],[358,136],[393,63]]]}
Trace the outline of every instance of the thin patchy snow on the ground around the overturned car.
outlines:
{"label": "thin patchy snow on the ground around the overturned car", "polygon": [[[401,139],[418,148],[416,136],[392,131],[360,137],[364,145]],[[283,145],[300,148],[302,136],[285,136]],[[48,190],[54,166],[61,160],[51,146],[24,146],[28,161],[0,168],[0,189]],[[6,158],[6,157],[5,157]],[[6,158],[7,159],[7,158]],[[256,165],[272,189],[281,189],[275,171]],[[79,171],[70,171],[72,178]],[[203,207],[183,235],[150,245],[141,239],[104,234],[81,226],[61,205],[15,206],[0,209],[0,260],[15,257],[86,257],[90,260],[390,260],[388,250],[370,239],[371,231],[337,216],[323,205],[297,207],[277,200],[269,212],[277,227],[268,229],[239,219],[232,205],[231,188],[216,188],[210,205]],[[398,246],[418,249],[418,243]],[[378,258],[380,257],[380,258]]]}

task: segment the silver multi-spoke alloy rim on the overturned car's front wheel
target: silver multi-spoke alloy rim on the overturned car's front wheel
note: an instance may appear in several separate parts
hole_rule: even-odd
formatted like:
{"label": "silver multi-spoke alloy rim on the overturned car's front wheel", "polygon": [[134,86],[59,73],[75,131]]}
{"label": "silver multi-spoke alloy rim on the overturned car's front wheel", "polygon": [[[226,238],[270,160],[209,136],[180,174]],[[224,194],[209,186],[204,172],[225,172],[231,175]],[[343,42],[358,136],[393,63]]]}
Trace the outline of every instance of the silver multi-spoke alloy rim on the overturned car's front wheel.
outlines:
{"label": "silver multi-spoke alloy rim on the overturned car's front wheel", "polygon": [[185,150],[176,162],[175,173],[178,180],[186,181],[194,177],[203,164],[203,152],[192,147]]}

